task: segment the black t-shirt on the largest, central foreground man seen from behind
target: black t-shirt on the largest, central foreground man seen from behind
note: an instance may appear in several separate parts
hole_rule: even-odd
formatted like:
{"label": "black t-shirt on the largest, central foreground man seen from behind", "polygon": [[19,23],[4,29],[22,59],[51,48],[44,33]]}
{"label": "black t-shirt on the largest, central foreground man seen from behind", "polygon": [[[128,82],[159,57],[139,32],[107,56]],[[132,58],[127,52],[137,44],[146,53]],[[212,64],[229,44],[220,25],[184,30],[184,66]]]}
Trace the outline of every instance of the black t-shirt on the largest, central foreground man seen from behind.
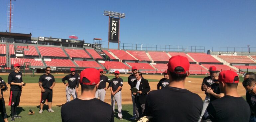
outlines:
{"label": "black t-shirt on the largest, central foreground man seen from behind", "polygon": [[199,95],[167,86],[148,93],[143,116],[153,116],[152,122],[197,122],[202,107]]}

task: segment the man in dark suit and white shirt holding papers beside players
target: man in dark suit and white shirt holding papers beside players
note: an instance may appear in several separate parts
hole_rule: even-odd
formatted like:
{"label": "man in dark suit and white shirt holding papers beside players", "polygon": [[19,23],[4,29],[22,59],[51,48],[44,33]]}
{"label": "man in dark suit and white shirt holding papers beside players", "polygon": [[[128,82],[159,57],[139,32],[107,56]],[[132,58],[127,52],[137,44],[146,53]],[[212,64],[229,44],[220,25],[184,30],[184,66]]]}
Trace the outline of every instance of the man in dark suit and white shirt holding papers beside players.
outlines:
{"label": "man in dark suit and white shirt holding papers beside players", "polygon": [[139,91],[137,93],[133,93],[135,96],[135,102],[136,102],[136,106],[135,106],[135,111],[137,113],[138,118],[142,117],[142,113],[145,109],[145,103],[146,103],[146,96],[148,94],[148,92],[150,91],[150,86],[148,83],[148,80],[144,79],[142,77],[142,73],[141,72],[137,72],[135,74],[136,79],[133,81],[133,87],[136,87]]}

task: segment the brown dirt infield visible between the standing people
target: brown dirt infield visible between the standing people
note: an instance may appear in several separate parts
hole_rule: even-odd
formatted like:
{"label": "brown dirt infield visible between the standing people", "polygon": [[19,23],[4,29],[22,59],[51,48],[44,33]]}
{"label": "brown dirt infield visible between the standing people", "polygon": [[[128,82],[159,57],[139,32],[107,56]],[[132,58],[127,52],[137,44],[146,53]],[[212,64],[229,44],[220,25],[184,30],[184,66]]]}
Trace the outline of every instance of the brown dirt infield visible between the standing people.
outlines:
{"label": "brown dirt infield visible between the standing people", "polygon": [[[128,75],[127,75],[128,76]],[[148,79],[161,79],[163,76],[161,75],[144,75],[144,78]],[[149,82],[151,90],[156,90],[156,85],[158,82]],[[204,99],[204,92],[201,91],[201,83],[202,78],[191,78],[188,77],[185,82],[185,87],[192,91],[193,93],[197,93],[202,99]],[[8,85],[9,86],[9,85]],[[9,86],[10,87],[10,86]],[[131,104],[131,91],[130,85],[128,82],[124,82],[122,87],[122,104]],[[81,89],[79,87],[79,95],[81,93]],[[238,93],[239,95],[245,95],[245,89],[242,86],[242,83],[238,84]],[[10,91],[4,92],[5,103],[8,105],[9,102],[9,94]],[[79,96],[78,95],[78,96]],[[38,83],[27,83],[26,86],[22,89],[21,102],[20,106],[37,106],[40,103],[41,99],[41,89],[39,88]],[[53,89],[53,106],[62,105],[66,102],[66,94],[65,94],[65,85],[63,83],[56,83]],[[105,102],[110,103],[110,90],[107,90]]]}

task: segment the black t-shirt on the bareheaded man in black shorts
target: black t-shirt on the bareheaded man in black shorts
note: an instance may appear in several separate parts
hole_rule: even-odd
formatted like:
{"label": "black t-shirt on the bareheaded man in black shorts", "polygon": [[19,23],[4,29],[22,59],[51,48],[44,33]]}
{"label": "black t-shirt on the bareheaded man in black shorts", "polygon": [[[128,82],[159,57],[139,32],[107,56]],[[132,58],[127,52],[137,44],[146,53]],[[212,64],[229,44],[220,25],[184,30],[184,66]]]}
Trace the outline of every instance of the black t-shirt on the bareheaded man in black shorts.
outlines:
{"label": "black t-shirt on the bareheaded man in black shorts", "polygon": [[42,82],[43,88],[50,88],[53,85],[53,82],[55,82],[55,78],[52,74],[43,74],[40,76],[38,82]]}

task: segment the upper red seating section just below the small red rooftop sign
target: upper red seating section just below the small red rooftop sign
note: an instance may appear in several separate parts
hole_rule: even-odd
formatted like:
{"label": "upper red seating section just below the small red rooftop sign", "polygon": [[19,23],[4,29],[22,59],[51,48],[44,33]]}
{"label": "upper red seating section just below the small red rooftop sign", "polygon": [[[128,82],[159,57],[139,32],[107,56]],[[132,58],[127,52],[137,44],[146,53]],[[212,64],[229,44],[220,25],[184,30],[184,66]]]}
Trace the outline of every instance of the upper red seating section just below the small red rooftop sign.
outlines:
{"label": "upper red seating section just below the small red rooftop sign", "polygon": [[79,49],[65,49],[70,58],[91,58],[84,50]]}

